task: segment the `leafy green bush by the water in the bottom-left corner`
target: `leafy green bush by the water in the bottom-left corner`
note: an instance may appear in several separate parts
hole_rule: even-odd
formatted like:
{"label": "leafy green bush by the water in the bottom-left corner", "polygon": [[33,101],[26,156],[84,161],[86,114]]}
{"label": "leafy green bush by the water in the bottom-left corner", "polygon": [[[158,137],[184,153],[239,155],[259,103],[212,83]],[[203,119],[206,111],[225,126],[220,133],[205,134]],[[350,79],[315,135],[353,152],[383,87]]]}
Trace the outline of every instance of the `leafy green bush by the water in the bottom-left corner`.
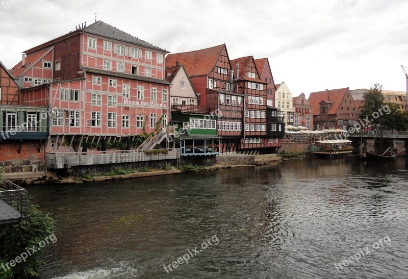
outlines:
{"label": "leafy green bush by the water in the bottom-left corner", "polygon": [[[4,226],[0,225],[0,231],[4,229]],[[38,277],[37,270],[45,264],[42,260],[44,248],[39,247],[39,242],[49,238],[55,230],[56,222],[50,214],[40,211],[37,205],[33,205],[31,200],[28,200],[27,218],[13,224],[0,238],[0,265],[15,260],[17,256],[33,245],[38,251],[29,256],[25,262],[17,263],[11,267],[7,272],[0,267],[0,278]]]}

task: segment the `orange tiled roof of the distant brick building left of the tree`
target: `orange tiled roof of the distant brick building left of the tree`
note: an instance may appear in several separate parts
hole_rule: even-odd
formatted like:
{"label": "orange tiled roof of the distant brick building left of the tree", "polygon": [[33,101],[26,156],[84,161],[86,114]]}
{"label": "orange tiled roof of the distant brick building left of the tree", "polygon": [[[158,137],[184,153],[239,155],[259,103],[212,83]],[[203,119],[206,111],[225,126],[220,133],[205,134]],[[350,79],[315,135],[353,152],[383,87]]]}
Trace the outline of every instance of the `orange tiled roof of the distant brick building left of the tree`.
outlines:
{"label": "orange tiled roof of the distant brick building left of the tree", "polygon": [[336,114],[336,111],[339,108],[347,90],[348,87],[310,93],[309,103],[312,106],[313,111],[316,112],[314,115],[318,115],[320,113],[319,104],[322,101],[332,104],[327,114]]}

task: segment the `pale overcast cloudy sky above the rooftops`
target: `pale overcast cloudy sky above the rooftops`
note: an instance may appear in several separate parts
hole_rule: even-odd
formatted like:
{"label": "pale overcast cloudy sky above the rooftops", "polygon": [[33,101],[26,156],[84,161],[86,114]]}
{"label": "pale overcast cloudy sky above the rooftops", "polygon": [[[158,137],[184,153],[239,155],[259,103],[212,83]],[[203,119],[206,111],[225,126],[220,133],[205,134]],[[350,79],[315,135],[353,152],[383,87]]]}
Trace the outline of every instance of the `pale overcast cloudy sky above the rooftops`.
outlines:
{"label": "pale overcast cloudy sky above the rooftops", "polygon": [[[0,60],[97,19],[171,53],[226,43],[268,57],[294,96],[335,88],[405,91],[406,0],[0,0]],[[70,4],[67,4],[70,3]]]}

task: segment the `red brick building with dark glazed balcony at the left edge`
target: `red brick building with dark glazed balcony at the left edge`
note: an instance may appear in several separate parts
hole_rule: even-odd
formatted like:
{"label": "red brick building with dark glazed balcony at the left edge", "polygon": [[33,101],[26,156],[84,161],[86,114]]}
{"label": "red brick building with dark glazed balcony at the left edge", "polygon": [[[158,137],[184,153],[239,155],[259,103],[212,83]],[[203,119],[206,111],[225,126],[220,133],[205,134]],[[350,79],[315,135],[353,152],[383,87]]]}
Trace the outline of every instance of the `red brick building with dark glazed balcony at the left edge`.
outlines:
{"label": "red brick building with dark glazed balcony at the left edge", "polygon": [[47,108],[21,106],[18,80],[1,62],[0,75],[0,167],[5,172],[42,171]]}

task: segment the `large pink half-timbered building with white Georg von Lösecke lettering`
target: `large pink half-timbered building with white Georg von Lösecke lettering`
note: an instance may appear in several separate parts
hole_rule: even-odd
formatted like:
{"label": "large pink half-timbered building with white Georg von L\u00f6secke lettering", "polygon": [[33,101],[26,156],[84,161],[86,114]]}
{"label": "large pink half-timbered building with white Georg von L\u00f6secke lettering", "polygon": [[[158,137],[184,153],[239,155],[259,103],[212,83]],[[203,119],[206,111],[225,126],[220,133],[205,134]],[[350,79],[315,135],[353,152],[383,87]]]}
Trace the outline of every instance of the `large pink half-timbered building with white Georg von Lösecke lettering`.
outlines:
{"label": "large pink half-timbered building with white Georg von L\u00f6secke lettering", "polygon": [[[26,50],[22,103],[50,108],[48,149],[156,132],[169,117],[165,49],[97,21]],[[76,151],[76,150],[75,150]]]}

